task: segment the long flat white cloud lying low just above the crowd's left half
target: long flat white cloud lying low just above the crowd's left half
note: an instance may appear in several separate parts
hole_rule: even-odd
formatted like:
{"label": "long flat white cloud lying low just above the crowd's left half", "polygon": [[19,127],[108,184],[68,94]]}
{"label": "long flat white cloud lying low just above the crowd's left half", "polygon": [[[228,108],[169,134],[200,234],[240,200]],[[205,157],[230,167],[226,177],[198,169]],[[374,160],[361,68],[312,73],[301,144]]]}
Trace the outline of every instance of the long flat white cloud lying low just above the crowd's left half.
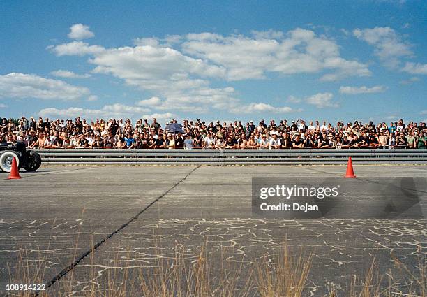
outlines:
{"label": "long flat white cloud lying low just above the crowd's left half", "polygon": [[119,117],[140,117],[142,113],[148,113],[148,108],[140,108],[137,106],[126,106],[121,103],[103,106],[100,109],[70,107],[65,109],[58,108],[43,108],[39,111],[40,117],[83,117],[85,119],[96,118],[119,118]]}

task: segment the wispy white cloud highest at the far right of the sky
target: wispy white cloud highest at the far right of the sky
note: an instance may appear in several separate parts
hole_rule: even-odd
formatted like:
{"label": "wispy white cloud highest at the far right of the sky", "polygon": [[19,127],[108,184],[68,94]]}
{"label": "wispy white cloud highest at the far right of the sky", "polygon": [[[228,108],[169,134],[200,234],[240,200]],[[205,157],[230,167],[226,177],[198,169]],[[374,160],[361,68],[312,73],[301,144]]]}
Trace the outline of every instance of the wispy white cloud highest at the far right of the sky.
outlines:
{"label": "wispy white cloud highest at the far right of the sky", "polygon": [[397,67],[401,57],[412,56],[411,45],[390,27],[375,27],[372,29],[354,29],[354,36],[373,45],[375,55],[389,67]]}

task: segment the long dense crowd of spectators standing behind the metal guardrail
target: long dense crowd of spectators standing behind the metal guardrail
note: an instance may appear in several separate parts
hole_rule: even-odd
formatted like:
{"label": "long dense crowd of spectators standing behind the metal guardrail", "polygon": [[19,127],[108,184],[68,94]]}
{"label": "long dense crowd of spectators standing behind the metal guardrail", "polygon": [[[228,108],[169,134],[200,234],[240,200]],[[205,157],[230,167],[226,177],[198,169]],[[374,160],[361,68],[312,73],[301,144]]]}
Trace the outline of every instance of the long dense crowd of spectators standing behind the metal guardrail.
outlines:
{"label": "long dense crowd of spectators standing behind the metal guardrail", "polygon": [[[17,124],[16,124],[17,123]],[[426,123],[391,122],[362,124],[336,122],[309,122],[286,119],[268,123],[262,119],[243,124],[235,122],[203,122],[184,120],[179,131],[168,131],[156,119],[96,119],[87,122],[80,117],[72,119],[42,119],[22,117],[18,121],[1,119],[0,143],[22,140],[34,148],[186,148],[257,149],[257,148],[427,148]]]}

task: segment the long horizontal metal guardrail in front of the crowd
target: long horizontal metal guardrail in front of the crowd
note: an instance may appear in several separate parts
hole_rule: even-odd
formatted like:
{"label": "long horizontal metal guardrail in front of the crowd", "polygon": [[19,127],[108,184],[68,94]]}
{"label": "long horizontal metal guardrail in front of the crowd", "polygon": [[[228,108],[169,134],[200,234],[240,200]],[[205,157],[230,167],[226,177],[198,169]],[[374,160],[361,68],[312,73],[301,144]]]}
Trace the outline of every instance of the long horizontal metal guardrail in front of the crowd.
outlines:
{"label": "long horizontal metal guardrail in front of the crowd", "polygon": [[43,164],[427,164],[426,149],[45,149]]}

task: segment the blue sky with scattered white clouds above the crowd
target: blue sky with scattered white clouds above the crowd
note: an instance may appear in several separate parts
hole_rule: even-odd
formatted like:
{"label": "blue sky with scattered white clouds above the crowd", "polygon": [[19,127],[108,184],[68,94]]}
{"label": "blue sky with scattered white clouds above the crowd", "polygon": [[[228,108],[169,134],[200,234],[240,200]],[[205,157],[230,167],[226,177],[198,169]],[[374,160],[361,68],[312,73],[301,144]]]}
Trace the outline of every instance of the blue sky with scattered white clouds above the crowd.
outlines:
{"label": "blue sky with scattered white clouds above the crowd", "polygon": [[427,1],[2,1],[0,116],[425,121]]}

